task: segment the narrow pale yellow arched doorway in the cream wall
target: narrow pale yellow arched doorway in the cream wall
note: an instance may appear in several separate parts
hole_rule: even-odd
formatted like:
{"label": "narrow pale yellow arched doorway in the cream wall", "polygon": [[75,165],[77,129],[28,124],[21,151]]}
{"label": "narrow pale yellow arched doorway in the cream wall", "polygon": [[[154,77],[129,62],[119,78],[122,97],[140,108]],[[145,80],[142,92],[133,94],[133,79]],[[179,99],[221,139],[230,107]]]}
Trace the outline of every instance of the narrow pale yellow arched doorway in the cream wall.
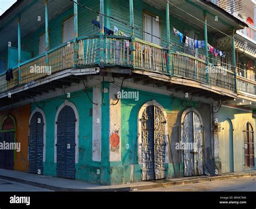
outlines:
{"label": "narrow pale yellow arched doorway in the cream wall", "polygon": [[224,172],[234,172],[233,125],[230,119],[224,122]]}

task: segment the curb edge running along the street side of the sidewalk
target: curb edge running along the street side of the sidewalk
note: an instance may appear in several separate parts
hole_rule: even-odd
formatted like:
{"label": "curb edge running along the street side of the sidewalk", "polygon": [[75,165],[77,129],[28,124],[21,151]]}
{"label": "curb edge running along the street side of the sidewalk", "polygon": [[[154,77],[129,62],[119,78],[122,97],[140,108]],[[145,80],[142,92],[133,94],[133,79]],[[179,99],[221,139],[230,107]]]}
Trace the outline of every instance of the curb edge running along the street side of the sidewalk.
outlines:
{"label": "curb edge running along the street side of the sidewalk", "polygon": [[0,175],[0,179],[15,181],[17,183],[27,184],[31,186],[46,188],[48,190],[56,191],[56,192],[132,192],[132,191],[139,191],[139,190],[149,190],[153,188],[161,188],[161,187],[169,187],[169,186],[181,186],[181,185],[188,185],[188,184],[197,184],[203,183],[207,181],[218,181],[218,180],[225,180],[225,179],[232,179],[232,178],[242,178],[242,177],[252,177],[256,176],[256,172],[249,172],[249,173],[241,173],[241,174],[230,174],[224,176],[214,176],[214,177],[205,177],[205,178],[196,178],[196,179],[187,179],[187,180],[176,180],[176,181],[169,181],[166,183],[156,183],[152,185],[140,185],[140,186],[127,186],[121,188],[65,188],[59,186],[51,186],[48,184],[36,183],[35,181],[29,181],[24,179],[19,179],[15,177],[8,177]]}

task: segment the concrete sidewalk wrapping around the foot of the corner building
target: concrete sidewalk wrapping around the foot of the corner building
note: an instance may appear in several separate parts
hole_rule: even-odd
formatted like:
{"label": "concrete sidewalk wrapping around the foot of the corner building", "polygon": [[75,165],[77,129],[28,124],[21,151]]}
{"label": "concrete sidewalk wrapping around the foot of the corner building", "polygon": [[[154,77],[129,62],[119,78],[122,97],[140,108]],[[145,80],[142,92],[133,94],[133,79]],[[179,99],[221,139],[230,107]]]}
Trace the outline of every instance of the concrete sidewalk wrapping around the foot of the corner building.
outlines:
{"label": "concrete sidewalk wrapping around the foot of the corner building", "polygon": [[64,178],[57,178],[51,176],[42,176],[37,174],[25,173],[20,171],[0,169],[0,179],[16,181],[22,184],[47,188],[52,191],[138,191],[148,190],[151,188],[167,187],[172,185],[187,185],[206,181],[224,180],[231,178],[241,178],[248,176],[256,176],[255,171],[228,173],[221,176],[197,176],[197,177],[183,177],[175,179],[163,179],[154,181],[142,181],[138,183],[101,186],[87,184],[84,181],[70,180]]}

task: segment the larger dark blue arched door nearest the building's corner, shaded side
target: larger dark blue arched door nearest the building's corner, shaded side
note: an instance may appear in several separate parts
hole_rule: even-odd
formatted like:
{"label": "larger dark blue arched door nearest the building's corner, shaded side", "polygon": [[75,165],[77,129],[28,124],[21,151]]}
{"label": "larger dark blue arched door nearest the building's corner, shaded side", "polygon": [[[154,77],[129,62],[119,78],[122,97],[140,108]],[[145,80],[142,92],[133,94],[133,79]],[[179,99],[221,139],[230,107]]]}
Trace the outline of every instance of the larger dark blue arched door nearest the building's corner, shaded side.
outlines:
{"label": "larger dark blue arched door nearest the building's corner, shaded side", "polygon": [[75,129],[75,112],[65,106],[57,120],[57,177],[75,179]]}

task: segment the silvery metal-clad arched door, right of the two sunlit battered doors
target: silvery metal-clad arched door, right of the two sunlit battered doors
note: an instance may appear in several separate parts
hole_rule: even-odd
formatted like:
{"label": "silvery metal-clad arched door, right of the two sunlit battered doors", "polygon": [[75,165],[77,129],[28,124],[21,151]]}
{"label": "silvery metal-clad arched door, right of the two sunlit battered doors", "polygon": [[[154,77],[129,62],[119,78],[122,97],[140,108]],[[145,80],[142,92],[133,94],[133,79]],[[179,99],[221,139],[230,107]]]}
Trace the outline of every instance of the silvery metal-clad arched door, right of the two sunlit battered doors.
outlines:
{"label": "silvery metal-clad arched door, right of the two sunlit battered doors", "polygon": [[194,112],[188,112],[183,122],[181,140],[184,145],[184,176],[198,176],[203,168],[203,126]]}

